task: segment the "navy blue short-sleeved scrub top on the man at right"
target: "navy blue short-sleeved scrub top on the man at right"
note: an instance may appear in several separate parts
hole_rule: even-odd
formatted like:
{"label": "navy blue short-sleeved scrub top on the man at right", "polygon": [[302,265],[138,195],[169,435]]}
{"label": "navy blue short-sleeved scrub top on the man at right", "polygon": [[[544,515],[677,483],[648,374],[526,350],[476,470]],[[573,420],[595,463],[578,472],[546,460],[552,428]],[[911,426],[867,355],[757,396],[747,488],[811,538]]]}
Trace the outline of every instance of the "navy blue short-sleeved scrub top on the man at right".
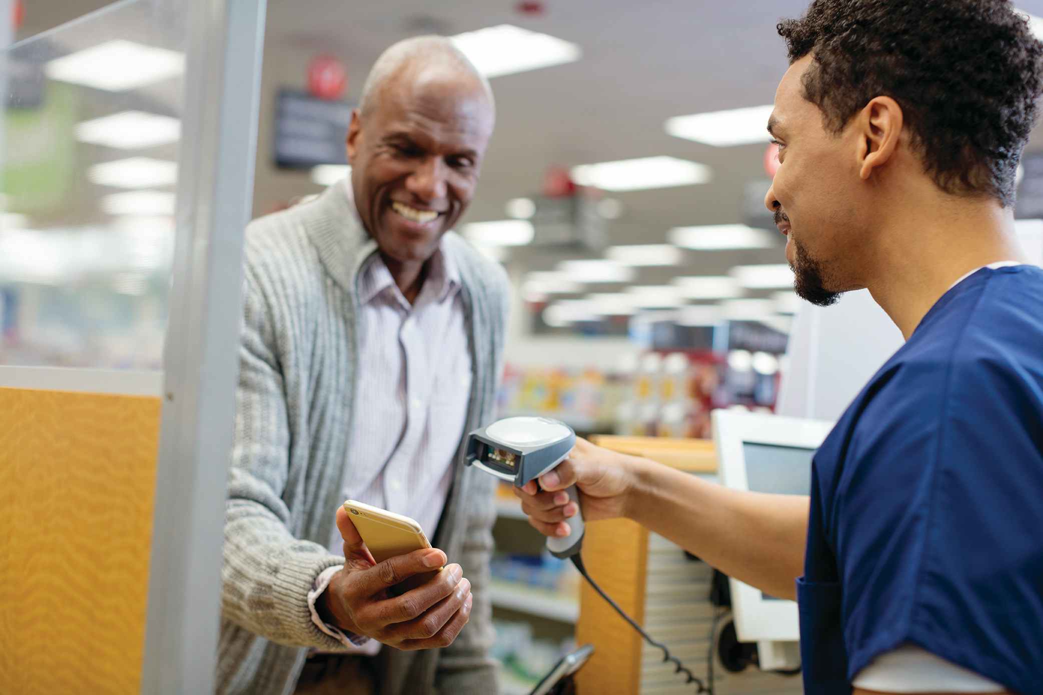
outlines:
{"label": "navy blue short-sleeved scrub top on the man at right", "polygon": [[1043,270],[943,296],[815,456],[804,690],[912,643],[1043,693]]}

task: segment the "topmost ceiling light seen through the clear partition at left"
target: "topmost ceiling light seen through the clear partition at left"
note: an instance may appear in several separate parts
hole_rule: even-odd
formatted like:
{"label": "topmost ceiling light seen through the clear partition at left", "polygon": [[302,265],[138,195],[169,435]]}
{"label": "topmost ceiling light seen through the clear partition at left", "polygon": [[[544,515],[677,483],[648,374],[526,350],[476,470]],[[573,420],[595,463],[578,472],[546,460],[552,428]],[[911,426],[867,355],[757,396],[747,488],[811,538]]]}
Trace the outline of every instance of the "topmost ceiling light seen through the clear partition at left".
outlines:
{"label": "topmost ceiling light seen through the clear partition at left", "polygon": [[51,60],[45,72],[63,82],[123,92],[180,75],[185,54],[116,40]]}

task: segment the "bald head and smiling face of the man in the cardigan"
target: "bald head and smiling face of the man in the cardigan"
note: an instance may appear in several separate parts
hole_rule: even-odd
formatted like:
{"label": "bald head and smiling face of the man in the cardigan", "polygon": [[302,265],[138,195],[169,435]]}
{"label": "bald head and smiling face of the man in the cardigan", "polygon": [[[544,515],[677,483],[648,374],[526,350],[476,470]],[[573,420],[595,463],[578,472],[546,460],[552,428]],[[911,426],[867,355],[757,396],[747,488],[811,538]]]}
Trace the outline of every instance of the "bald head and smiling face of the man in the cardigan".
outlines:
{"label": "bald head and smiling face of the man in the cardigan", "polygon": [[377,60],[347,162],[359,217],[396,281],[419,272],[467,208],[494,121],[488,81],[448,39],[409,39]]}

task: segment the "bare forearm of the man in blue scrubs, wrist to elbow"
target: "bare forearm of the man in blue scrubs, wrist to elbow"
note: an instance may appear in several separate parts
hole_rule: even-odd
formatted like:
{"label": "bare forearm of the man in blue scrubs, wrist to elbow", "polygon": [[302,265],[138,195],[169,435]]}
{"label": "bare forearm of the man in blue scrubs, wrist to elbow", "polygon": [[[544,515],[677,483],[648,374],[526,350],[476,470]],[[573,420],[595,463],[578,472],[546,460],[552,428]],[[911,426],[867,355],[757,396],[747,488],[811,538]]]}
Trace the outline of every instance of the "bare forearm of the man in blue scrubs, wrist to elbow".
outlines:
{"label": "bare forearm of the man in blue scrubs, wrist to elbow", "polygon": [[627,515],[725,574],[794,598],[809,500],[730,490],[640,460]]}

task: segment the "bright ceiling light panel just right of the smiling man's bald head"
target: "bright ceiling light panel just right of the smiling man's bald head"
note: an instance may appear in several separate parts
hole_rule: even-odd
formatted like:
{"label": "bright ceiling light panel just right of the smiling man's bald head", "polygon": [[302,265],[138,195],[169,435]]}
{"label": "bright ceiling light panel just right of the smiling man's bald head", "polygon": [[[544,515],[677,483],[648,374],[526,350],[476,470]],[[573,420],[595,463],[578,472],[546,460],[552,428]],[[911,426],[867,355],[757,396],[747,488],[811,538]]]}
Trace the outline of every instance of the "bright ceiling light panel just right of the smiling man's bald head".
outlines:
{"label": "bright ceiling light panel just right of the smiling man's bald head", "polygon": [[583,55],[576,44],[510,24],[457,34],[453,43],[486,77],[550,68]]}

